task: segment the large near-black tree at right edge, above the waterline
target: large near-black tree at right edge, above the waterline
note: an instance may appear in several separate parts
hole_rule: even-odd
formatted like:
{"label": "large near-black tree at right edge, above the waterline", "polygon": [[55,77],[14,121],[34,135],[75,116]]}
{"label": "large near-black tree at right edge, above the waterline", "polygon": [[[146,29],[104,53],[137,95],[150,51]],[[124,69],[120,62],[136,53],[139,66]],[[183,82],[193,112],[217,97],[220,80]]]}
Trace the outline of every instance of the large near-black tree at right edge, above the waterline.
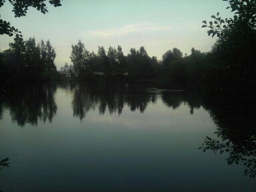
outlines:
{"label": "large near-black tree at right edge, above the waterline", "polygon": [[209,25],[203,21],[202,27],[210,28],[208,35],[218,36],[205,72],[205,87],[214,87],[211,91],[221,91],[222,95],[246,98],[255,90],[256,81],[256,1],[230,0],[229,3],[228,8],[235,12],[233,18],[224,20],[217,13]]}

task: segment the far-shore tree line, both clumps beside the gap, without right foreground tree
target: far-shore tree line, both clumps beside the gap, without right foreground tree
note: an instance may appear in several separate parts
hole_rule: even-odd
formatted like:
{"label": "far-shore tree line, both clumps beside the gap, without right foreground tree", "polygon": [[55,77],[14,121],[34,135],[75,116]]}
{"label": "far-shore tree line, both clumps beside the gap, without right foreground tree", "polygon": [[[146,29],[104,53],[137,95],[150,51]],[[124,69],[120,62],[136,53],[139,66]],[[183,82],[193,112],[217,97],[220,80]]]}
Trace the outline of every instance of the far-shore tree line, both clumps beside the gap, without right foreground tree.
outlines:
{"label": "far-shore tree line, both clumps beside the gap, without right foreground tree", "polygon": [[[56,52],[49,40],[41,40],[36,44],[35,38],[24,41],[16,37],[9,46],[8,50],[0,51],[2,82],[56,80]],[[148,56],[144,46],[139,50],[131,48],[125,56],[120,45],[117,49],[110,46],[107,51],[103,46],[98,46],[98,52],[95,53],[86,50],[79,40],[72,45],[70,59],[78,80],[90,80],[94,72],[104,72],[105,78],[112,80],[165,78],[168,82],[186,84],[187,79],[194,81],[196,69],[202,65],[205,56],[206,53],[192,48],[191,55],[183,57],[182,52],[174,48],[164,53],[162,60],[158,60],[156,56]]]}

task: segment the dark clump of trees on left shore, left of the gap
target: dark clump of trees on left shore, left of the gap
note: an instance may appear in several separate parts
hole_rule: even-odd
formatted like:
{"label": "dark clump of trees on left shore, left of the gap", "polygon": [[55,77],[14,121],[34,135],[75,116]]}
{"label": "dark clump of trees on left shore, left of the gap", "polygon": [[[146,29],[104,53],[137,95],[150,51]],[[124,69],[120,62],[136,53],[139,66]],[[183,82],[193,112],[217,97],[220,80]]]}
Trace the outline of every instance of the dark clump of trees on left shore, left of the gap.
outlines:
{"label": "dark clump of trees on left shore, left of the gap", "polygon": [[46,44],[43,40],[36,44],[35,38],[24,41],[17,37],[9,46],[8,50],[0,52],[3,87],[17,82],[50,81],[56,77],[56,52],[49,40]]}

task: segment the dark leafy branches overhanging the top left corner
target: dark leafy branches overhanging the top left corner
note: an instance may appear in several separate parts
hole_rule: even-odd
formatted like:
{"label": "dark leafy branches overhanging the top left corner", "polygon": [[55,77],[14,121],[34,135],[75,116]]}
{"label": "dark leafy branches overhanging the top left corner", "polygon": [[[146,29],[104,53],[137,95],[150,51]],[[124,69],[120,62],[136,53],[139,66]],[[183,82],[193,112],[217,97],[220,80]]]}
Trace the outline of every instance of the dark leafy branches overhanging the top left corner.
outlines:
{"label": "dark leafy branches overhanging the top left corner", "polygon": [[[44,3],[45,1],[46,0],[9,0],[13,6],[12,12],[14,12],[15,17],[25,16],[28,8],[31,6],[45,14],[48,12],[46,4]],[[49,3],[54,7],[58,7],[61,6],[60,1],[61,0],[49,0]],[[0,0],[0,8],[4,5],[5,2],[6,0]],[[7,34],[9,36],[16,34],[16,37],[22,37],[21,32],[14,28],[14,26],[11,26],[10,22],[6,22],[0,19],[0,35],[3,34]]]}

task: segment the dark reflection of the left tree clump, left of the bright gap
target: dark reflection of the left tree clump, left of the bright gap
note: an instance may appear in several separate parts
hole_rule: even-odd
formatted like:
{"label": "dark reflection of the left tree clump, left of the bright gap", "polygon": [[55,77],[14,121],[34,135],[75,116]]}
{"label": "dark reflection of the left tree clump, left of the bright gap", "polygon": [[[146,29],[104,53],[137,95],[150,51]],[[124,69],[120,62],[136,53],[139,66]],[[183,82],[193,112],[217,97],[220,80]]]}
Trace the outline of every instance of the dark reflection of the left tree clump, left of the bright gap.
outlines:
{"label": "dark reflection of the left tree clump, left of the bright gap", "polygon": [[10,110],[12,122],[16,122],[19,126],[24,126],[26,123],[37,125],[38,120],[52,122],[57,111],[55,92],[54,85],[20,87],[12,96],[2,96],[0,117],[3,109],[6,108]]}

